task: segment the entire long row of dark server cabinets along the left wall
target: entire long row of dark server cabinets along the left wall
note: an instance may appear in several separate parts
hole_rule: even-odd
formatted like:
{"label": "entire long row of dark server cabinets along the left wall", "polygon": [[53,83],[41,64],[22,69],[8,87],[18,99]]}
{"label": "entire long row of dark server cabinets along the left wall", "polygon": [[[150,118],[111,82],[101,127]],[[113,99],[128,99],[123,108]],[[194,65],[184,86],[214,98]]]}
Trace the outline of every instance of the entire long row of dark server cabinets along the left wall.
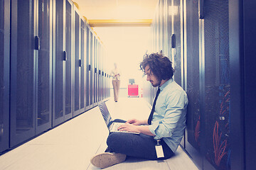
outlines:
{"label": "entire long row of dark server cabinets along the left wall", "polygon": [[[0,9],[0,152],[4,152],[87,111],[107,95],[100,94],[104,48],[72,1],[0,0]],[[89,66],[99,69],[99,75]]]}

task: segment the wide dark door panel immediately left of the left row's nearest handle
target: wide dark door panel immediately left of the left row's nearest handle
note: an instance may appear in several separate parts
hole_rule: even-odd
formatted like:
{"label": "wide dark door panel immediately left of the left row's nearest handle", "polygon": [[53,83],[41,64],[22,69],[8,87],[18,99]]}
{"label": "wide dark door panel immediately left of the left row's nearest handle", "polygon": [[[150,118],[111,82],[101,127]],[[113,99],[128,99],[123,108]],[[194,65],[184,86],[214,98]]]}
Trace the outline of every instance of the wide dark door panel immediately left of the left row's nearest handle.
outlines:
{"label": "wide dark door panel immediately left of the left row's nearest handle", "polygon": [[11,147],[35,135],[35,13],[34,1],[11,1]]}

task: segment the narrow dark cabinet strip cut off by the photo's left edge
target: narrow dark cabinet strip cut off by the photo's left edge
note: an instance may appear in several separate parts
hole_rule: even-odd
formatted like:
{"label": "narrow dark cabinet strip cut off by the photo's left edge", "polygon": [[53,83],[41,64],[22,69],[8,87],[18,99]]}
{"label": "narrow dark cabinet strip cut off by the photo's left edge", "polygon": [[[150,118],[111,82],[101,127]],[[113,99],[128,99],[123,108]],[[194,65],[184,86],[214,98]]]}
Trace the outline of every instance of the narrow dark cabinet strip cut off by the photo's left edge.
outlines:
{"label": "narrow dark cabinet strip cut off by the photo's left edge", "polygon": [[0,152],[9,148],[10,1],[0,0]]}

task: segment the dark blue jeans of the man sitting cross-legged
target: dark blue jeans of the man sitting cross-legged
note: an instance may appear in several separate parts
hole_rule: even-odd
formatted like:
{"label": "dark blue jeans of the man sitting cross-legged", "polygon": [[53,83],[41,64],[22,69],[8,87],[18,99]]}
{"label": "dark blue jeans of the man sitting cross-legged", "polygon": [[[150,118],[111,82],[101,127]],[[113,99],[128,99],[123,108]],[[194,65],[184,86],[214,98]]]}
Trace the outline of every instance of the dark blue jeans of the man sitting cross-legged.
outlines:
{"label": "dark blue jeans of the man sitting cross-legged", "polygon": [[[125,122],[124,120],[114,120],[114,122]],[[174,155],[174,152],[166,145],[164,140],[161,140],[161,145],[164,150],[164,158],[156,157],[156,140],[154,137],[144,134],[132,134],[123,132],[112,132],[107,137],[107,146],[111,152],[126,154],[130,157],[139,157],[151,160],[169,159]]]}

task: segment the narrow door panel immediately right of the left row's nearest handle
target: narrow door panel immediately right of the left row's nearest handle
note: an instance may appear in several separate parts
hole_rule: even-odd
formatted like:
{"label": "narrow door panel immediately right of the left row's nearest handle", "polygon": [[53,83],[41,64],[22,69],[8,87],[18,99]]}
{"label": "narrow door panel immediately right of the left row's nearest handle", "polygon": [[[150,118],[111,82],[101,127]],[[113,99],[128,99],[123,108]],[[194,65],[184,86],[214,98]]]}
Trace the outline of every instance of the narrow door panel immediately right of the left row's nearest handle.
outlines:
{"label": "narrow door panel immediately right of the left row's nearest handle", "polygon": [[52,126],[52,1],[37,1],[36,134]]}

